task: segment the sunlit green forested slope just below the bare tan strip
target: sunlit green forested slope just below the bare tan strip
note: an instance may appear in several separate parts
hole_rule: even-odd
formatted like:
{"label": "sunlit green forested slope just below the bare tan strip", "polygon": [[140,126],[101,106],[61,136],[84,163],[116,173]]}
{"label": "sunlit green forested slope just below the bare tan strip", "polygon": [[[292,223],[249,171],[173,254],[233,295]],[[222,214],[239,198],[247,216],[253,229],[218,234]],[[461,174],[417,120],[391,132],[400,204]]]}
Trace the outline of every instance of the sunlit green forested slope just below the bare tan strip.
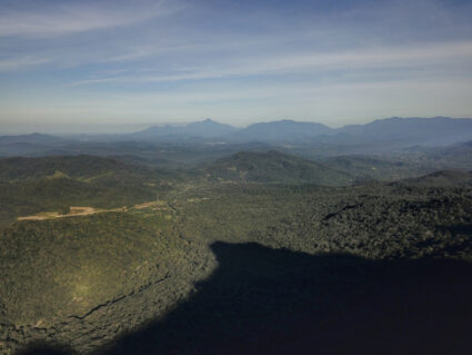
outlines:
{"label": "sunlit green forested slope just below the bare tan strip", "polygon": [[110,213],[6,228],[0,238],[3,321],[44,326],[81,316],[145,284],[157,264],[179,263],[182,241],[164,216]]}

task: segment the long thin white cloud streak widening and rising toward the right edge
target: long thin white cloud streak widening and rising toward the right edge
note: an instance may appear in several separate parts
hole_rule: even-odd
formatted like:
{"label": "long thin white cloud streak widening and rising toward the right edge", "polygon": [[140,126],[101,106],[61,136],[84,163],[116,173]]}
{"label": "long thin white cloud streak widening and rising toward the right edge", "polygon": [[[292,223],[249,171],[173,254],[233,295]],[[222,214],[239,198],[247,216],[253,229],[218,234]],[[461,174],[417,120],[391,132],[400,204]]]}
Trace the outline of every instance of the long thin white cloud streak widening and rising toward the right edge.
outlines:
{"label": "long thin white cloud streak widening and rising toward the right edge", "polygon": [[[205,67],[184,70],[171,75],[150,73],[103,77],[79,80],[69,86],[127,82],[164,82],[184,80],[224,79],[245,76],[285,75],[305,71],[313,73],[323,70],[359,70],[414,68],[423,70],[431,66],[445,66],[454,69],[458,63],[472,62],[472,41],[456,43],[433,43],[421,47],[373,48],[341,52],[312,52],[279,55],[259,58],[240,58],[218,68],[218,62]],[[212,67],[212,68],[209,68]]]}

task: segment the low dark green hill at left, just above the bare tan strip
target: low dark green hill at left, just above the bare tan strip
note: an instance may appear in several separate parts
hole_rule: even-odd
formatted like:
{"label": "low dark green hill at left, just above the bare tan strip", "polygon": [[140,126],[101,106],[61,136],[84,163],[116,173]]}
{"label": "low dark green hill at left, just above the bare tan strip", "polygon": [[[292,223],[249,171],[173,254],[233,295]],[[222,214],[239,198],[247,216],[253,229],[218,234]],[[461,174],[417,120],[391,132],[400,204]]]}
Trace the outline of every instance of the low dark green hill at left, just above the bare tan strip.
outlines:
{"label": "low dark green hill at left, just above the bare tan strip", "polygon": [[114,208],[165,196],[179,174],[91,156],[0,159],[0,225],[70,206]]}

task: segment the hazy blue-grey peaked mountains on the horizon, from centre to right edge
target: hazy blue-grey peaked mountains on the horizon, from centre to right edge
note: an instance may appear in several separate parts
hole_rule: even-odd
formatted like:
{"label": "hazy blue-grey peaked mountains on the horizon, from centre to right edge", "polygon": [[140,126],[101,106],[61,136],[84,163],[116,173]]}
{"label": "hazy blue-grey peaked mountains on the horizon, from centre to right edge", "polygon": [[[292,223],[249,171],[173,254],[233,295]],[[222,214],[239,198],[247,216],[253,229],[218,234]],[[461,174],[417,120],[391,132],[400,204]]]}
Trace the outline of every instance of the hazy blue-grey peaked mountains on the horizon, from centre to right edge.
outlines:
{"label": "hazy blue-grey peaked mountains on the horizon, from centre to right edge", "polygon": [[215,139],[224,142],[308,142],[362,144],[384,142],[393,146],[442,146],[472,139],[472,119],[386,118],[365,125],[330,128],[317,122],[280,120],[259,122],[238,129],[211,119],[184,126],[152,126],[127,135],[137,140]]}

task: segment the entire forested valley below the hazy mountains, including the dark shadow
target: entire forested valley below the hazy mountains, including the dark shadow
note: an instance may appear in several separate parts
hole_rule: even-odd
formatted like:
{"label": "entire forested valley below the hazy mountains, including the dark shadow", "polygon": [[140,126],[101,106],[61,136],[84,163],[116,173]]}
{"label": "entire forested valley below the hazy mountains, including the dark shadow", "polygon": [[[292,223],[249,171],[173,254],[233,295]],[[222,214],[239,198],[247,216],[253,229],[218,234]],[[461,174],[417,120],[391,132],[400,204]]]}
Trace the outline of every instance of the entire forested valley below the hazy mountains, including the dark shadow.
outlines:
{"label": "entire forested valley below the hazy mountains, including the dark shadow", "polygon": [[469,142],[145,145],[0,158],[0,353],[472,348]]}

